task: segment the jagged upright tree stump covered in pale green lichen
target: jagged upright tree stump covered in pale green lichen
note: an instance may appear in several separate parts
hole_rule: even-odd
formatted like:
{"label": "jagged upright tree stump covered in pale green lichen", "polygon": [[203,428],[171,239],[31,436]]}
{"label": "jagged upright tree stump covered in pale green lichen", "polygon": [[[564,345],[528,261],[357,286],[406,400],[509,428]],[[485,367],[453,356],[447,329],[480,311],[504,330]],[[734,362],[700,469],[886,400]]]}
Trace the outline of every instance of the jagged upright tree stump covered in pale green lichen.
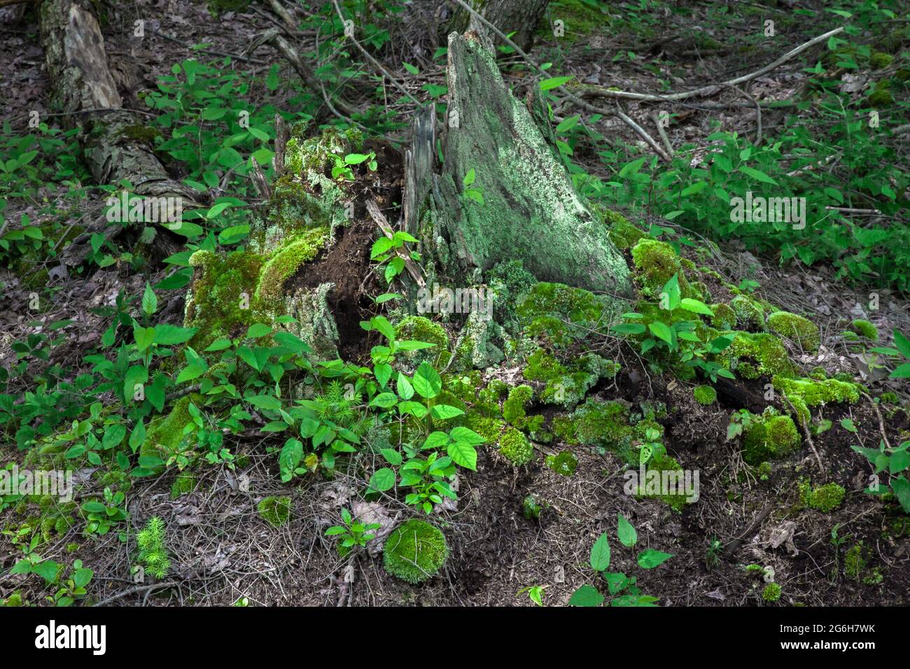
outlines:
{"label": "jagged upright tree stump covered in pale green lichen", "polygon": [[[470,31],[449,38],[450,92],[445,162],[431,180],[430,212],[418,228],[423,247],[449,277],[477,278],[495,264],[520,259],[537,279],[627,295],[629,269],[607,228],[579,197],[557,152],[540,97],[522,103],[503,82],[492,53]],[[540,124],[540,125],[539,125]],[[413,155],[426,153],[426,121],[419,117]],[[405,177],[406,224],[410,198],[428,187],[413,171]],[[484,203],[465,196],[464,177]],[[410,172],[411,170],[409,170]]]}

